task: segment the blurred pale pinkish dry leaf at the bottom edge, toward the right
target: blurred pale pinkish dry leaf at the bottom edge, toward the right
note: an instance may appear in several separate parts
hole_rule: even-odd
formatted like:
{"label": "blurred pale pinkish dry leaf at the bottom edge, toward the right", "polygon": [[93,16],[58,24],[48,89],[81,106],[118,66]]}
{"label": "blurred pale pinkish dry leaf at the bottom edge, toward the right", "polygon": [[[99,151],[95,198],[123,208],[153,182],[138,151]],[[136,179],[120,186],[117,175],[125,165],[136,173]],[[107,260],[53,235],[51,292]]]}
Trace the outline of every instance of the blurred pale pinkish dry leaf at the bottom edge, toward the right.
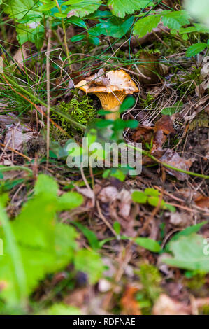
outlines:
{"label": "blurred pale pinkish dry leaf at the bottom edge, toward the right", "polygon": [[154,315],[189,315],[191,307],[173,300],[162,293],[152,309]]}

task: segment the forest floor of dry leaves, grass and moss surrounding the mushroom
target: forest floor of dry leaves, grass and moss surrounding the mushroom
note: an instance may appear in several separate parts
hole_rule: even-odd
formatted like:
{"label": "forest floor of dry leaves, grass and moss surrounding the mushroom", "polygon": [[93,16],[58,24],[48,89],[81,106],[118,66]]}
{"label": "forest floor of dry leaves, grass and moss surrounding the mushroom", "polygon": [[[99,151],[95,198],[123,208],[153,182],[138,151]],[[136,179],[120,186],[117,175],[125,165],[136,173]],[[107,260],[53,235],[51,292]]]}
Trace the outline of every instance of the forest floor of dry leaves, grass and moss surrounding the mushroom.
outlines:
{"label": "forest floor of dry leaves, grass and moss surrounding the mushroom", "polygon": [[[71,25],[67,39],[80,31]],[[79,248],[95,251],[103,264],[99,273],[95,269],[96,279],[91,279],[94,257],[81,258],[80,270],[73,262],[52,270],[33,289],[26,312],[64,314],[70,306],[78,314],[208,314],[208,265],[201,267],[199,248],[209,239],[209,95],[201,73],[209,57],[186,57],[187,41],[158,29],[116,43],[108,36],[99,45],[71,43],[69,66],[62,60],[61,29],[46,34],[40,52],[29,42],[20,48],[12,24],[0,35],[7,63],[0,85],[0,192],[8,198],[8,218],[19,216],[31,200],[38,175],[50,176],[59,197],[82,195],[82,204],[58,211],[57,221],[71,225]],[[137,69],[140,59],[147,62]],[[74,86],[99,69],[113,68],[127,71],[140,90],[122,113],[122,120],[138,121],[138,127],[123,129],[123,140],[141,143],[146,153],[135,176],[120,168],[70,168],[64,146],[69,140],[81,145],[82,127],[57,112],[48,116],[50,100],[52,108],[94,127],[103,118],[99,99]],[[25,82],[28,94],[19,88]],[[206,245],[199,247],[199,239]]]}

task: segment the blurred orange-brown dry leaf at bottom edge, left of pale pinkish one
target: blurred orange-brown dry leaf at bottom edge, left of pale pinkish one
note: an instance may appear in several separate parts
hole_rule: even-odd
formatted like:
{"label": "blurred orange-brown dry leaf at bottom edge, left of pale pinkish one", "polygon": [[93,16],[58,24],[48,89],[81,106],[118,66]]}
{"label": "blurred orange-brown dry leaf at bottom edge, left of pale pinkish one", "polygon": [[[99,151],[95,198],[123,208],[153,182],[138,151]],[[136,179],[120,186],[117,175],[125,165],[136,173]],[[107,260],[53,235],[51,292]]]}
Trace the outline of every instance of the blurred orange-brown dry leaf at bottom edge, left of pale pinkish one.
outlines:
{"label": "blurred orange-brown dry leaf at bottom edge, left of pale pinkish one", "polygon": [[141,315],[139,303],[136,301],[135,294],[138,288],[135,286],[127,286],[121,299],[121,307],[123,315]]}

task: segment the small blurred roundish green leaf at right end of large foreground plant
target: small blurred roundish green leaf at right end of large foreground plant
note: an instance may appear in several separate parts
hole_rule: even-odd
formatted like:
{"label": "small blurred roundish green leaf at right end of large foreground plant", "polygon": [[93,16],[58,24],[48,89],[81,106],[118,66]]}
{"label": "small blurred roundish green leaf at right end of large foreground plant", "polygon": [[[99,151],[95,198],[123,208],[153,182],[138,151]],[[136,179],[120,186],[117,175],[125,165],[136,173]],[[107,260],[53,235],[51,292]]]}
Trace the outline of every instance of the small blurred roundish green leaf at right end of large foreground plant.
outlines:
{"label": "small blurred roundish green leaf at right end of large foreground plant", "polygon": [[75,269],[89,276],[89,283],[96,283],[103,273],[103,263],[98,253],[81,249],[75,255]]}

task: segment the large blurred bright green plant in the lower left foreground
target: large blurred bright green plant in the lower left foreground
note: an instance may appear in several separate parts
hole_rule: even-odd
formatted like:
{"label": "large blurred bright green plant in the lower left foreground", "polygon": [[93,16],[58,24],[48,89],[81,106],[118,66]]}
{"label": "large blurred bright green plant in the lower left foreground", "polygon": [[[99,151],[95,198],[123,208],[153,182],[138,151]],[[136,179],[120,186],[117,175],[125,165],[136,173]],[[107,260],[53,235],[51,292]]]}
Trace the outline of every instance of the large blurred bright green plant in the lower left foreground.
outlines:
{"label": "large blurred bright green plant in the lower left foreground", "polygon": [[75,241],[77,232],[72,226],[57,221],[56,214],[78,207],[82,196],[68,192],[58,197],[57,191],[57,183],[52,178],[39,175],[34,197],[24,204],[13,221],[9,221],[3,209],[5,198],[1,197],[3,255],[0,257],[0,296],[7,302],[7,307],[19,305],[24,311],[27,298],[38,282],[46,274],[63,269],[69,262],[75,262],[75,269],[86,271],[92,282],[101,275],[103,267],[99,255],[88,251],[86,256],[92,267],[83,265],[80,260],[82,249],[79,250]]}

